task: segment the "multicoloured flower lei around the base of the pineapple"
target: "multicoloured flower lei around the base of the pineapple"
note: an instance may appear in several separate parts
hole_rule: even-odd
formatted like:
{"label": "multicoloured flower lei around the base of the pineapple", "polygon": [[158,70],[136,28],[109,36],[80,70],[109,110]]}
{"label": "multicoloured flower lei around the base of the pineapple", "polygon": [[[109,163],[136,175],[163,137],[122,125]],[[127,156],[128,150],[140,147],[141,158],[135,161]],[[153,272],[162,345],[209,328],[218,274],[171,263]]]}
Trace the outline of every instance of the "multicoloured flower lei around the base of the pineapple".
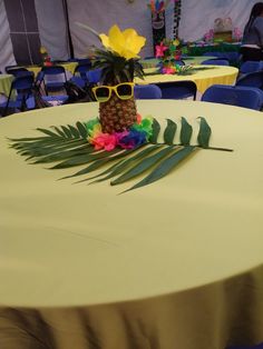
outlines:
{"label": "multicoloured flower lei around the base of the pineapple", "polygon": [[142,119],[140,114],[137,114],[137,122],[129,130],[123,132],[104,133],[98,119],[86,122],[86,128],[88,130],[88,141],[94,144],[95,150],[111,151],[116,147],[134,149],[147,143],[153,136],[153,118]]}

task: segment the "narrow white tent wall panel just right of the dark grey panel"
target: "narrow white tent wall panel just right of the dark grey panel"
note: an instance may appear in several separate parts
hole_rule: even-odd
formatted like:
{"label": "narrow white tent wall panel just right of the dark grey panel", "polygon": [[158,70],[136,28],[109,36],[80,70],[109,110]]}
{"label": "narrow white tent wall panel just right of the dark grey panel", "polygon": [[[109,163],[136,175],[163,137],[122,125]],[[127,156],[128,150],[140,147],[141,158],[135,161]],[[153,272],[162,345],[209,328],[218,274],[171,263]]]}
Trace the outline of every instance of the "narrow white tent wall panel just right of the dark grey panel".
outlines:
{"label": "narrow white tent wall panel just right of the dark grey panel", "polygon": [[41,44],[52,60],[67,60],[69,47],[61,0],[35,0]]}

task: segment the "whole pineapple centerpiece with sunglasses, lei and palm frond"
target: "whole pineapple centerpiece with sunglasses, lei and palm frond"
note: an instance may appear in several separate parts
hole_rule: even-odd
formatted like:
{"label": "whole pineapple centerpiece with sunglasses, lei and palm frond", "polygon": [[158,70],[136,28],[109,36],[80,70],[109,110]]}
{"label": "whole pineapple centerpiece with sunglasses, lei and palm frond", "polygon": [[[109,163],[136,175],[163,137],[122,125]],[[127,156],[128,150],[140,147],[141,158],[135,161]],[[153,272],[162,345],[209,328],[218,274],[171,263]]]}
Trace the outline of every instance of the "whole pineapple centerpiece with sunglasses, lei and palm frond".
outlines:
{"label": "whole pineapple centerpiece with sunglasses, lei and palm frond", "polygon": [[92,92],[99,102],[99,116],[76,120],[75,124],[38,128],[39,137],[11,139],[12,148],[31,163],[56,162],[53,170],[77,167],[76,173],[64,178],[85,176],[79,182],[109,179],[115,186],[143,176],[128,190],[162,179],[197,149],[220,149],[208,147],[211,128],[203,117],[195,121],[198,130],[193,132],[183,117],[177,122],[167,119],[162,128],[157,119],[137,113],[134,77],[143,78],[137,54],[145,38],[134,29],[120,31],[117,26],[108,36],[98,37],[103,48],[95,51],[94,69],[100,69],[101,76]]}

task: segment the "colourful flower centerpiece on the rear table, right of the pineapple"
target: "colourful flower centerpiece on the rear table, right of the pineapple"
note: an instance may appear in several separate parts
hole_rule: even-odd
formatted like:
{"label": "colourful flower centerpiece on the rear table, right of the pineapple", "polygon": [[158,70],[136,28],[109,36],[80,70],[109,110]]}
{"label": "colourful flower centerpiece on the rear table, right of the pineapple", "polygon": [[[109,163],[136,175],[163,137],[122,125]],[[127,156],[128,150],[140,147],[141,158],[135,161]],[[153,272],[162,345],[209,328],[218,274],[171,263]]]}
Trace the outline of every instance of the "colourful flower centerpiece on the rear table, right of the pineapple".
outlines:
{"label": "colourful flower centerpiece on the rear table, right of the pineapple", "polygon": [[179,39],[164,39],[155,47],[155,57],[159,59],[162,73],[176,73],[185,69],[179,62],[187,48]]}

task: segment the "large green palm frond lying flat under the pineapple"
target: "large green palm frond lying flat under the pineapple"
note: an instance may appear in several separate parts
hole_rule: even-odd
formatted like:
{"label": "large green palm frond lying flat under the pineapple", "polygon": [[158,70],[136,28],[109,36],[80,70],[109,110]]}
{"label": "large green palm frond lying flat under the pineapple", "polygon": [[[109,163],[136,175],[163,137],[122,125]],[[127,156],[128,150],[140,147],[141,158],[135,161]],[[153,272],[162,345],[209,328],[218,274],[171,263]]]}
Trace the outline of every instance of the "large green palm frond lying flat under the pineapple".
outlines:
{"label": "large green palm frond lying flat under the pineapple", "polygon": [[[125,64],[123,61],[119,63]],[[118,72],[117,69],[116,77],[119,77],[120,80],[124,74],[127,79],[130,78],[128,71],[123,71],[121,77],[118,76]],[[105,69],[105,73],[107,73],[107,69]],[[19,154],[26,156],[27,160],[33,160],[30,163],[57,162],[50,169],[86,166],[61,179],[87,176],[78,182],[92,180],[90,183],[94,183],[111,180],[110,185],[116,186],[143,176],[140,181],[126,190],[129,191],[162,179],[196,149],[231,151],[225,148],[211,148],[211,128],[204,118],[198,118],[198,121],[196,146],[191,146],[193,127],[185,118],[181,119],[179,144],[174,143],[177,124],[171,119],[167,119],[163,132],[163,143],[158,142],[158,138],[162,136],[160,124],[154,119],[149,142],[128,150],[121,148],[113,151],[95,150],[88,142],[86,124],[80,121],[75,126],[52,126],[52,130],[38,128],[37,130],[45,136],[8,140],[11,142],[10,147]],[[89,176],[94,171],[97,172]]]}

